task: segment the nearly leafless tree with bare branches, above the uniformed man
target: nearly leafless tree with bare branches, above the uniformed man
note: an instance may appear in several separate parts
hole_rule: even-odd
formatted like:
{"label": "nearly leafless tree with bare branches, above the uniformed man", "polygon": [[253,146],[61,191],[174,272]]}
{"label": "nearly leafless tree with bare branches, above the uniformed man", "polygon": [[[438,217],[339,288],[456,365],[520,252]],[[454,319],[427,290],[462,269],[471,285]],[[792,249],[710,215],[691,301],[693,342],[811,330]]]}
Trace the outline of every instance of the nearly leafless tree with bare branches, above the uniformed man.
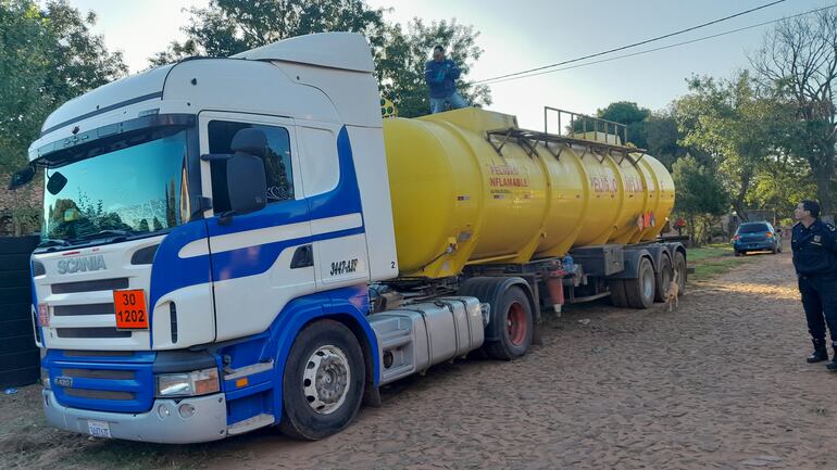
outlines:
{"label": "nearly leafless tree with bare branches, above the uniformed man", "polygon": [[833,213],[837,203],[837,10],[780,22],[750,62],[761,82],[791,104],[796,120],[788,136],[791,151],[808,163],[823,213]]}

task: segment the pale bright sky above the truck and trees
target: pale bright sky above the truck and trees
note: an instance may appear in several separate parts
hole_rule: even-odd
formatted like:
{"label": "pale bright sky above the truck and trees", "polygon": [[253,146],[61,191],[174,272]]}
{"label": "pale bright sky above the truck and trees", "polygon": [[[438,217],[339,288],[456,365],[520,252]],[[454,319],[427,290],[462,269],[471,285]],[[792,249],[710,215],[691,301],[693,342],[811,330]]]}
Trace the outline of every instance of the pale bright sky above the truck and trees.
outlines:
{"label": "pale bright sky above the truck and trees", "polygon": [[[470,78],[478,80],[534,68],[650,39],[728,16],[772,0],[367,0],[390,9],[387,20],[407,25],[455,18],[479,31],[484,49]],[[104,36],[111,51],[122,51],[132,73],[148,66],[148,58],[183,39],[188,23],[184,9],[208,0],[70,0],[98,15],[93,31]],[[837,4],[837,0],[786,0],[757,12],[673,38],[629,49],[660,46],[729,31],[784,16]],[[761,26],[662,51],[571,68],[491,86],[489,109],[516,115],[522,127],[542,129],[544,106],[595,114],[614,101],[634,101],[664,109],[687,92],[695,74],[728,78],[749,66],[748,55],[772,26]],[[428,51],[429,55],[429,51]],[[613,54],[617,55],[617,54]],[[608,55],[610,56],[610,55]],[[605,56],[607,58],[607,56]]]}

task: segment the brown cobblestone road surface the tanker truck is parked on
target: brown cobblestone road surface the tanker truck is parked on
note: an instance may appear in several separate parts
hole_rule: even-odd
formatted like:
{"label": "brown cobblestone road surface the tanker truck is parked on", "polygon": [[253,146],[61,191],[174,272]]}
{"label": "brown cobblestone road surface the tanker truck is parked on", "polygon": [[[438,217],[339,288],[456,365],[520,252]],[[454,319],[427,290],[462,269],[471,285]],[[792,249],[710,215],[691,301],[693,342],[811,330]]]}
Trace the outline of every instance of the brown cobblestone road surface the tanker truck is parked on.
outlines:
{"label": "brown cobblestone road surface the tanker truck is parked on", "polygon": [[834,468],[837,373],[809,352],[790,256],[757,255],[689,285],[674,313],[572,308],[526,357],[436,367],[315,443],[272,430],[199,446],[90,441],[42,429],[27,388],[0,396],[0,467]]}

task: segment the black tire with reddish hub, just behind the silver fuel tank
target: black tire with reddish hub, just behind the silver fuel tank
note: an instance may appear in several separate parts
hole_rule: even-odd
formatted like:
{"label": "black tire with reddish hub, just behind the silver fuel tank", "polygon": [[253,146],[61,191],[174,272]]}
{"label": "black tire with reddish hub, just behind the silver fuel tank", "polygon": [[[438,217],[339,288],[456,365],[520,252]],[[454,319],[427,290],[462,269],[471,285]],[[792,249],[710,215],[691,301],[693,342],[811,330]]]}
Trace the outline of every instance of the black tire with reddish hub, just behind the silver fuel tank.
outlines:
{"label": "black tire with reddish hub, just behind the silver fuel tank", "polygon": [[488,357],[510,360],[523,356],[532,345],[532,334],[535,325],[532,315],[529,297],[517,285],[512,285],[503,292],[499,308],[491,305],[491,321],[503,325],[500,340],[486,342],[483,345]]}

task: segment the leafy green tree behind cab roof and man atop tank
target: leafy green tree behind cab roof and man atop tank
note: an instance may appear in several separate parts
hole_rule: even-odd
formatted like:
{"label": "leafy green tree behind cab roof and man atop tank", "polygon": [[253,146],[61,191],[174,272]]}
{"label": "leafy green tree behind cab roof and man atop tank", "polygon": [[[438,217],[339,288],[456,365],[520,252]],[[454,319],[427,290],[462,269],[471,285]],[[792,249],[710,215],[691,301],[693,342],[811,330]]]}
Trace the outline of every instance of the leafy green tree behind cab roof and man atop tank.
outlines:
{"label": "leafy green tree behind cab roof and man atop tank", "polygon": [[189,10],[184,42],[172,42],[149,61],[162,65],[190,55],[229,56],[295,36],[353,31],[368,39],[380,90],[401,116],[427,114],[424,67],[436,45],[445,46],[462,69],[463,97],[474,104],[491,103],[488,87],[472,86],[465,79],[473,61],[483,53],[473,27],[455,21],[425,24],[414,18],[404,29],[400,24],[387,24],[384,12],[370,8],[365,0],[212,0],[207,8]]}

